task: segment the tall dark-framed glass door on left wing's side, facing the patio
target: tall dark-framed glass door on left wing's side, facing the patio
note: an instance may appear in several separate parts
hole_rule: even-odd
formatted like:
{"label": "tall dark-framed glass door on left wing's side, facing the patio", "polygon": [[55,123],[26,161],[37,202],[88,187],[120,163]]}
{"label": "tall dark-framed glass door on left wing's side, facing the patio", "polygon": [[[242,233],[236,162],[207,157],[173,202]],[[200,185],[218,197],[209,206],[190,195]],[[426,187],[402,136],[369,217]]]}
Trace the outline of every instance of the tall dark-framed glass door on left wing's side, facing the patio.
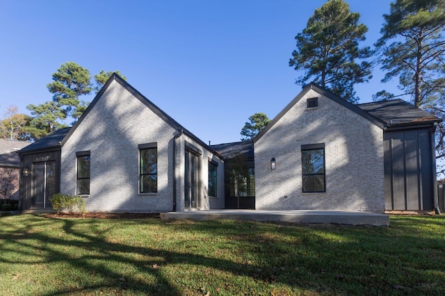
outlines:
{"label": "tall dark-framed glass door on left wing's side, facing the patio", "polygon": [[198,179],[200,171],[200,158],[191,151],[186,150],[186,176],[185,176],[185,203],[186,208],[199,208],[199,189]]}

